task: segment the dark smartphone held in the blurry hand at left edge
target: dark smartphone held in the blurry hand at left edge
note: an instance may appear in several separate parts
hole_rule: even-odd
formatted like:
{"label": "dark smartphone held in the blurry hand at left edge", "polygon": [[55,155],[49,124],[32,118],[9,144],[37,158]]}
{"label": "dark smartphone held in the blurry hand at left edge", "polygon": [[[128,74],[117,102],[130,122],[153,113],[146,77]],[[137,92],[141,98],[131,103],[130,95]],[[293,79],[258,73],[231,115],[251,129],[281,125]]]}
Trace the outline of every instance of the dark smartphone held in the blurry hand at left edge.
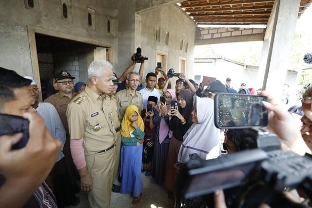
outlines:
{"label": "dark smartphone held in the blurry hand at left edge", "polygon": [[29,121],[20,116],[0,113],[0,136],[23,133],[23,138],[12,149],[20,149],[26,146],[29,137]]}

